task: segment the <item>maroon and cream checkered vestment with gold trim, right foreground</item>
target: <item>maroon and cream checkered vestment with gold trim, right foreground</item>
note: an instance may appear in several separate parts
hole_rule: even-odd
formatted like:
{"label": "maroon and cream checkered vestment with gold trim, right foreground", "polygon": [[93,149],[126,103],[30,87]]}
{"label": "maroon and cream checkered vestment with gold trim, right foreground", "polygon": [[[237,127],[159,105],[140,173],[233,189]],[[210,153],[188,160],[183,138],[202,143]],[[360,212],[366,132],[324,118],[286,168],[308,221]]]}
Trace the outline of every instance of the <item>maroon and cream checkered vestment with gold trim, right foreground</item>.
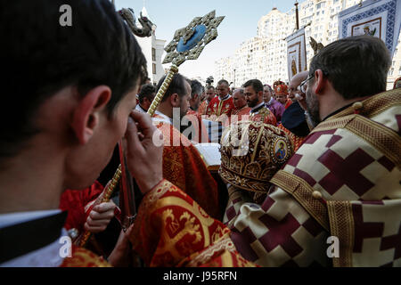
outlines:
{"label": "maroon and cream checkered vestment with gold trim, right foreground", "polygon": [[[355,106],[355,107],[354,107]],[[231,188],[224,222],[261,266],[401,266],[401,90],[315,127],[259,206]],[[329,258],[328,238],[339,239]]]}

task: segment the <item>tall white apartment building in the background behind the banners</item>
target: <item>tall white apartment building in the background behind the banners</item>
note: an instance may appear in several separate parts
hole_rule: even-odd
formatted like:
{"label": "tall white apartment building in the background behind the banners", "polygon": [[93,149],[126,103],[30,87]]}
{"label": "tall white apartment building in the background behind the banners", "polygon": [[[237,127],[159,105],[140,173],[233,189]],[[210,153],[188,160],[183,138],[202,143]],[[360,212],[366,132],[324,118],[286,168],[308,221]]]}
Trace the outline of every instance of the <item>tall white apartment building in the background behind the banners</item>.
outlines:
{"label": "tall white apartment building in the background behind the banners", "polygon": [[[339,12],[358,4],[360,0],[307,0],[299,4],[299,28],[305,27],[307,43],[307,65],[314,51],[309,37],[328,45],[339,39]],[[275,80],[288,82],[287,42],[296,28],[295,6],[289,12],[276,8],[258,21],[258,36],[245,41],[235,54],[216,61],[215,79],[225,78],[241,86],[248,79],[258,78],[272,85]],[[389,70],[388,89],[401,76],[401,39]],[[235,70],[235,71],[234,71]]]}

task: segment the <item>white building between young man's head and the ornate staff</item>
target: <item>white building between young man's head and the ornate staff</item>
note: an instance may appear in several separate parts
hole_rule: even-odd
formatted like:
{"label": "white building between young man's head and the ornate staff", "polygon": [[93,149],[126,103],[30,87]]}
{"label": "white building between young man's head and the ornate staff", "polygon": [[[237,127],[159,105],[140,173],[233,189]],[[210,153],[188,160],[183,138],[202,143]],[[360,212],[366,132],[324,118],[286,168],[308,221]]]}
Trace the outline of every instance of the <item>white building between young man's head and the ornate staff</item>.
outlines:
{"label": "white building between young man's head and the ornate staff", "polygon": [[[148,15],[146,8],[143,7],[142,14],[144,16]],[[137,25],[140,27],[141,24],[138,22]],[[141,46],[142,52],[146,58],[148,77],[151,78],[151,83],[157,84],[161,77],[163,77],[166,72],[161,65],[162,56],[164,53],[164,45],[166,40],[156,38],[155,31],[151,37],[136,37],[138,44]]]}

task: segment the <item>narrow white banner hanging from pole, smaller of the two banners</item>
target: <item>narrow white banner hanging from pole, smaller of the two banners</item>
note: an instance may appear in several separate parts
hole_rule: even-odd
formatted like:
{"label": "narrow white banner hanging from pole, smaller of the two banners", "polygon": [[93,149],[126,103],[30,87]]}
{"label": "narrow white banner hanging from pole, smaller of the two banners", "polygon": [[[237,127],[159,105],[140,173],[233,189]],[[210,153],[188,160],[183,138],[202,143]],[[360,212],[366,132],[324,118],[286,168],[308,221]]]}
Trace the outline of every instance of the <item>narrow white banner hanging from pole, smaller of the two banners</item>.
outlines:
{"label": "narrow white banner hanging from pole, smaller of the two banners", "polygon": [[305,29],[299,28],[287,40],[288,79],[291,80],[300,71],[307,70],[307,49]]}

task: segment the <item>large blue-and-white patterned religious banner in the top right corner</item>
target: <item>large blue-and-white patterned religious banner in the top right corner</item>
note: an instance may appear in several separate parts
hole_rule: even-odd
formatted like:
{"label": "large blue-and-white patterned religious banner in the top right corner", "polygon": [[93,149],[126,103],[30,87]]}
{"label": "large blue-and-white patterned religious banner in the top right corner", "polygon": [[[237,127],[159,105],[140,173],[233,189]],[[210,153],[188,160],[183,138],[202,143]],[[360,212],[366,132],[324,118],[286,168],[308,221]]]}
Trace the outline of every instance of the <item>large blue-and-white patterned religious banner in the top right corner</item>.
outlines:
{"label": "large blue-and-white patterned religious banner in the top right corner", "polygon": [[340,38],[369,35],[380,37],[391,56],[401,28],[401,1],[368,0],[339,14]]}

